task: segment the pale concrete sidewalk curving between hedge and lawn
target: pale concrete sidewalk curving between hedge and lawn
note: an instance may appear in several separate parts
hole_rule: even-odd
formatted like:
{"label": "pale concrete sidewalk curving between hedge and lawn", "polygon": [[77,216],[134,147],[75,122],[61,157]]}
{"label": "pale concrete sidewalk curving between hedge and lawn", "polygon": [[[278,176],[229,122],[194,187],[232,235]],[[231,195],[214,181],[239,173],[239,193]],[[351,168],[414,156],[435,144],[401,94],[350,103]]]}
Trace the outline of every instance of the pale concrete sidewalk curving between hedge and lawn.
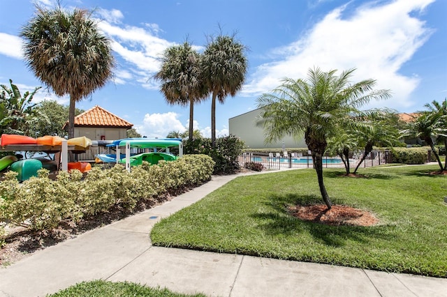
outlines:
{"label": "pale concrete sidewalk curving between hedge and lawn", "polygon": [[88,231],[0,269],[0,297],[45,296],[88,280],[138,282],[207,296],[447,296],[447,279],[152,247],[149,231],[235,176]]}

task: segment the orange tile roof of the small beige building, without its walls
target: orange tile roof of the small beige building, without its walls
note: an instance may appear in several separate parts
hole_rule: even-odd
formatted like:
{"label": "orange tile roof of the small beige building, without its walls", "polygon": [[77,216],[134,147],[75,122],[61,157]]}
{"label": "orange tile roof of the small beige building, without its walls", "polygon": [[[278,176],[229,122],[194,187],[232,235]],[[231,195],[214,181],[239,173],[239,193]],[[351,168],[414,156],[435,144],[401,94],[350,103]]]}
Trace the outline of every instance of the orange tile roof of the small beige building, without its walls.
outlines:
{"label": "orange tile roof of the small beige building, without its walls", "polygon": [[[68,123],[68,122],[67,122]],[[65,125],[67,125],[67,123]],[[64,127],[65,127],[64,125]],[[133,124],[95,105],[75,116],[75,127],[132,128]]]}

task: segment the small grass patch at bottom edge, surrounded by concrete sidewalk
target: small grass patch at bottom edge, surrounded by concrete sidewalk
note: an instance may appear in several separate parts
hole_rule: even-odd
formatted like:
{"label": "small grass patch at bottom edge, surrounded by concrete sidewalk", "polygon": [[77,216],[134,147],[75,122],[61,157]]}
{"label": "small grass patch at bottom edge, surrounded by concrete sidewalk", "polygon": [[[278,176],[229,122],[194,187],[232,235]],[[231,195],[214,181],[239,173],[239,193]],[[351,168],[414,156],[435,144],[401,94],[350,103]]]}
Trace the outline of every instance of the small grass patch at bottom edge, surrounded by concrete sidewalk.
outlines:
{"label": "small grass patch at bottom edge, surrounded by concrete sidewalk", "polygon": [[131,282],[106,282],[104,280],[94,280],[91,282],[80,282],[72,287],[61,290],[50,297],[127,297],[127,296],[151,296],[151,297],[183,297],[196,296],[204,297],[203,294],[186,295],[177,294],[168,289],[153,289],[150,287],[134,284]]}

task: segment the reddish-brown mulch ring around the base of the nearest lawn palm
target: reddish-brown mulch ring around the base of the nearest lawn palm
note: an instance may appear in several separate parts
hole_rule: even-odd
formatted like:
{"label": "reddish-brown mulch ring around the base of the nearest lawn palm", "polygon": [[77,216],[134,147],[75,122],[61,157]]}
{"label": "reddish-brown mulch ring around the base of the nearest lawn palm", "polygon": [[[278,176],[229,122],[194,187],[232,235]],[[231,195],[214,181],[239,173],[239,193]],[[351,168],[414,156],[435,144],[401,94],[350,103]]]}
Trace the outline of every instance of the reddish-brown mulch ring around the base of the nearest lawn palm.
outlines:
{"label": "reddish-brown mulch ring around the base of the nearest lawn palm", "polygon": [[325,204],[312,204],[308,206],[288,206],[288,211],[294,217],[309,222],[318,222],[332,226],[351,225],[368,227],[379,222],[372,213],[362,209],[345,205],[332,205],[328,209]]}

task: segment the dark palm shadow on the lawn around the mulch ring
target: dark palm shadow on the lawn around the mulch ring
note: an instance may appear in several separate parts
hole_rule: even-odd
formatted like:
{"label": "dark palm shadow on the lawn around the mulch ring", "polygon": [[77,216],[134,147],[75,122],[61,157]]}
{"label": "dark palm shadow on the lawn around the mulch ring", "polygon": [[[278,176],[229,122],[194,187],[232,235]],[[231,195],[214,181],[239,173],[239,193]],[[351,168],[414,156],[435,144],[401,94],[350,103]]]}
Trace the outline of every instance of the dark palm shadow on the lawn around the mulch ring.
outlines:
{"label": "dark palm shadow on the lawn around the mulch ring", "polygon": [[270,206],[269,213],[258,213],[253,215],[259,219],[262,228],[270,236],[300,236],[300,234],[310,234],[318,243],[332,247],[342,247],[348,241],[356,241],[362,244],[368,244],[369,238],[384,238],[391,240],[387,236],[388,228],[385,225],[376,225],[372,227],[360,226],[330,226],[318,222],[309,222],[295,218],[288,212],[287,206],[292,205],[311,205],[321,204],[321,197],[316,195],[272,195],[265,204]]}

